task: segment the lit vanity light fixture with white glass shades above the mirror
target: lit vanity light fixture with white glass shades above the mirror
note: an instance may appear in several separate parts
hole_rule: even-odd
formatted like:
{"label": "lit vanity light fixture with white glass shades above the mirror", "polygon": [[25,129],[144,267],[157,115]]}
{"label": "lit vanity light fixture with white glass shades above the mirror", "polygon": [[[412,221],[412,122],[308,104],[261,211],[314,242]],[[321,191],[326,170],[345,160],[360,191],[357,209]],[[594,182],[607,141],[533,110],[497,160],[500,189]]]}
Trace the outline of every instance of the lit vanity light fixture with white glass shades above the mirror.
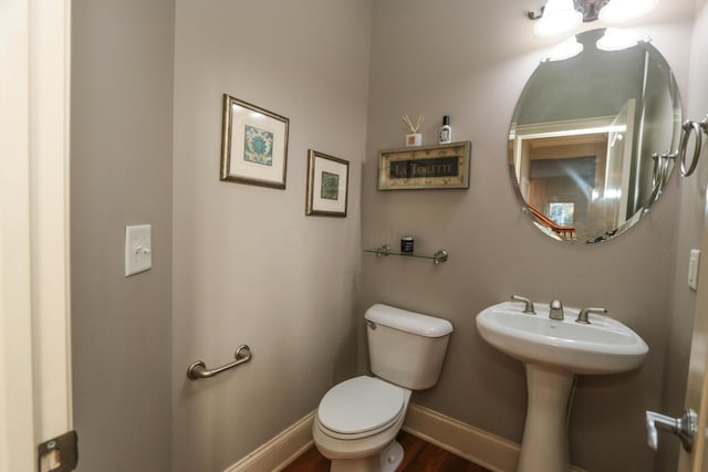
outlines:
{"label": "lit vanity light fixture with white glass shades above the mirror", "polygon": [[581,22],[600,19],[605,23],[625,23],[652,12],[659,0],[548,0],[541,13],[529,12],[533,33],[552,36],[576,28]]}

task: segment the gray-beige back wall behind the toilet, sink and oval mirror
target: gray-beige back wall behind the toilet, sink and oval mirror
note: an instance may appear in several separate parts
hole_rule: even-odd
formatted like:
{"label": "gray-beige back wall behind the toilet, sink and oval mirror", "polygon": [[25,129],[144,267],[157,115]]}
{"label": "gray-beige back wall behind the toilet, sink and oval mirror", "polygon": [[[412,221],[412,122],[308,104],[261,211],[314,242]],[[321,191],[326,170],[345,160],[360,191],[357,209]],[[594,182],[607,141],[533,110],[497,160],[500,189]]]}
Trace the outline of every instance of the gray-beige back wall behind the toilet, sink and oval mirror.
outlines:
{"label": "gray-beige back wall behind the toilet, sink and oval mirror", "polygon": [[[450,319],[456,331],[440,382],[414,401],[518,442],[525,415],[521,364],[480,339],[475,315],[512,293],[606,306],[647,340],[650,353],[637,371],[580,379],[571,459],[587,470],[650,470],[644,411],[660,408],[663,373],[671,368],[665,354],[677,180],[637,228],[587,248],[551,241],[520,211],[506,137],[524,82],[551,44],[532,36],[521,11],[538,7],[530,3],[485,0],[472,9],[464,0],[374,2],[362,241],[395,244],[413,234],[421,250],[445,248],[450,259],[434,266],[365,255],[362,310],[385,302]],[[678,17],[655,15],[638,30],[652,35],[685,90],[693,2],[670,7]],[[403,143],[403,114],[426,115],[424,144],[435,141],[442,115],[451,116],[454,138],[472,140],[469,190],[376,190],[377,150]]]}

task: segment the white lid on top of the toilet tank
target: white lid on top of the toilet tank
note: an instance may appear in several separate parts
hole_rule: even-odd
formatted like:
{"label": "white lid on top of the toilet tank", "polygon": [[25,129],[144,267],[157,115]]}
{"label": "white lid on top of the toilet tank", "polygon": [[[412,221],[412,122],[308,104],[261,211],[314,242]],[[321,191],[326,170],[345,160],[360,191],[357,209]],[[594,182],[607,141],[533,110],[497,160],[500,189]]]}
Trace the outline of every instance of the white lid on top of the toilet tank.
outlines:
{"label": "white lid on top of the toilet tank", "polygon": [[441,337],[452,333],[452,324],[447,319],[396,308],[383,303],[372,305],[366,311],[364,318],[389,328],[426,337]]}

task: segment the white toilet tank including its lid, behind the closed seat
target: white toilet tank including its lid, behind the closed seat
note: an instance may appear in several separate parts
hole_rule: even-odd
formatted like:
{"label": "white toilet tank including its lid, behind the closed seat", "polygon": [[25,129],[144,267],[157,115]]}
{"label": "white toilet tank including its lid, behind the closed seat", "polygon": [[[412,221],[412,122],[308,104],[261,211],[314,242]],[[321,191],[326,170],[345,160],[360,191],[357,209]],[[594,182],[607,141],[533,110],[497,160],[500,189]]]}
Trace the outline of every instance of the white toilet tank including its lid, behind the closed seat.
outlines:
{"label": "white toilet tank including its lid, behind the closed seat", "polygon": [[413,390],[437,384],[452,333],[447,319],[375,304],[366,311],[372,371]]}

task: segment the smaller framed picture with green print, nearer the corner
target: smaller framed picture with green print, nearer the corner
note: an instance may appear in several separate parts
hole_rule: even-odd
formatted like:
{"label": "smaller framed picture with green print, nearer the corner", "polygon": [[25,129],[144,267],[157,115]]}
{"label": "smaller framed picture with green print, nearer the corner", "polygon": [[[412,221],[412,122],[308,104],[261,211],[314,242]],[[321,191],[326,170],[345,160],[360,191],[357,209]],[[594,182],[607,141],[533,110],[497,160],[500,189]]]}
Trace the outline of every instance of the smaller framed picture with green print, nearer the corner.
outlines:
{"label": "smaller framed picture with green print, nearer the corner", "polygon": [[346,217],[350,162],[310,149],[305,214]]}

